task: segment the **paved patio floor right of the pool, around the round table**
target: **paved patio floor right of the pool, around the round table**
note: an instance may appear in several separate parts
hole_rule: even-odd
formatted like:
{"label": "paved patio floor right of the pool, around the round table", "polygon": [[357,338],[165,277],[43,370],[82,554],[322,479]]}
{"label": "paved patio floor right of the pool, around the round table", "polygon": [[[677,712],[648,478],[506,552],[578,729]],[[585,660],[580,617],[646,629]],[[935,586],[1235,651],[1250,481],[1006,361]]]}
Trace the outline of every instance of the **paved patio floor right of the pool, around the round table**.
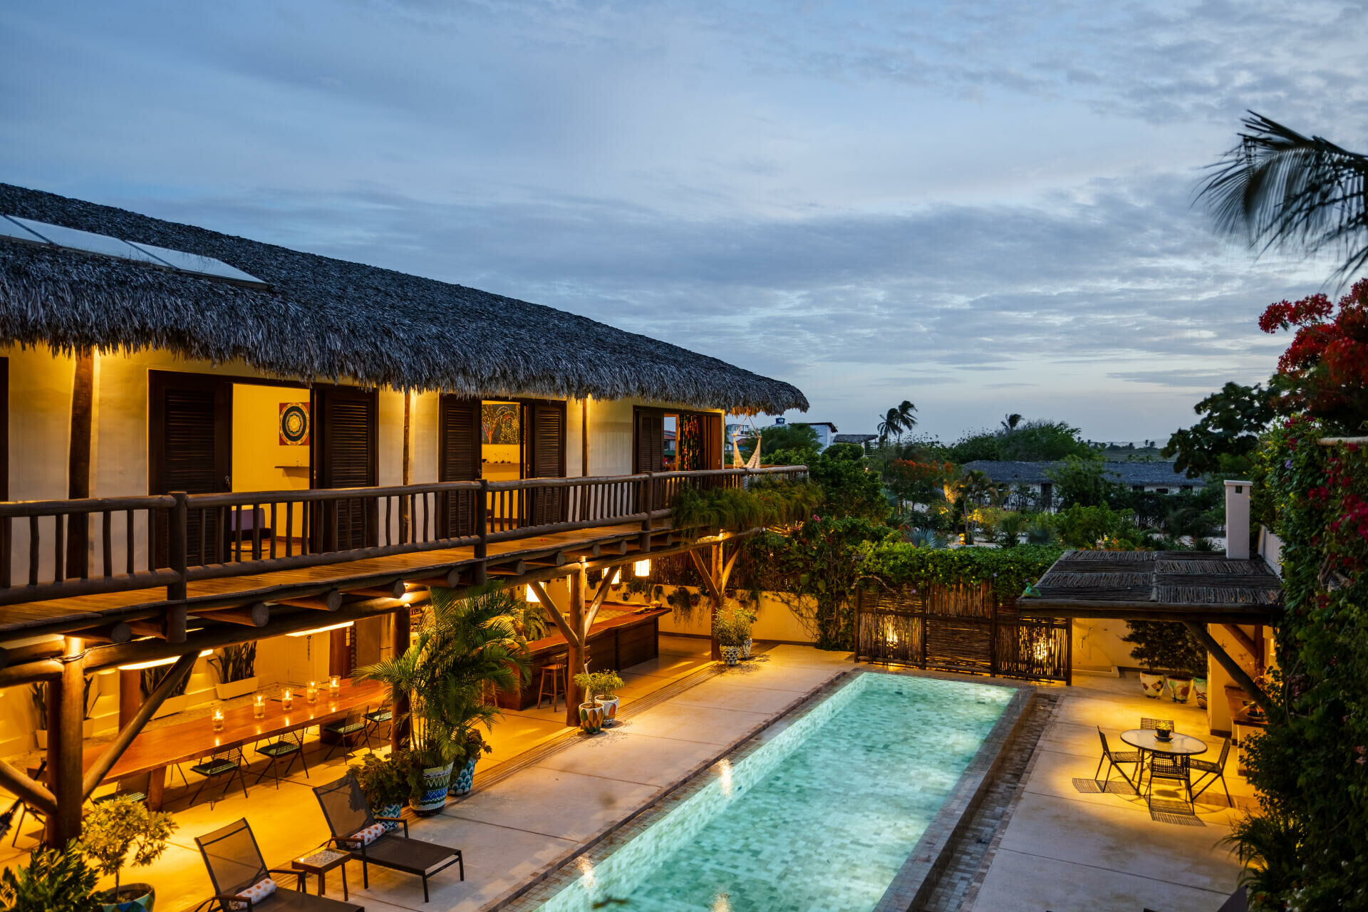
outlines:
{"label": "paved patio floor right of the pool, around the round table", "polygon": [[[1207,741],[1202,759],[1215,759],[1220,738],[1207,734],[1207,714],[1192,706],[1145,699],[1134,673],[1123,678],[1079,677],[1062,697],[1008,811],[1008,823],[990,849],[992,863],[977,896],[964,908],[975,912],[1211,912],[1220,907],[1239,876],[1239,864],[1220,841],[1249,805],[1253,790],[1235,774],[1230,752],[1226,783],[1197,800],[1197,814],[1160,790],[1146,808],[1124,782],[1112,777],[1101,793],[1097,768],[1101,726],[1112,749],[1127,749],[1120,732],[1140,716],[1174,719],[1179,732]],[[1127,767],[1133,768],[1133,767]]]}

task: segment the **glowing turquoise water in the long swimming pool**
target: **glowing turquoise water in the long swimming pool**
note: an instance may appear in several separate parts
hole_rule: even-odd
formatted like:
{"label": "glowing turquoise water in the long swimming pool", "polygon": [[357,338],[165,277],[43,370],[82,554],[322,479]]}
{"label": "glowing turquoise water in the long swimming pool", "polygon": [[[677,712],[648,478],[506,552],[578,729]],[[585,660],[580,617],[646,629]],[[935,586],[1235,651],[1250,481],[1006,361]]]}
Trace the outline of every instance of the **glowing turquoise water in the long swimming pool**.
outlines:
{"label": "glowing turquoise water in the long swimming pool", "polygon": [[858,674],[540,908],[873,909],[1012,695]]}

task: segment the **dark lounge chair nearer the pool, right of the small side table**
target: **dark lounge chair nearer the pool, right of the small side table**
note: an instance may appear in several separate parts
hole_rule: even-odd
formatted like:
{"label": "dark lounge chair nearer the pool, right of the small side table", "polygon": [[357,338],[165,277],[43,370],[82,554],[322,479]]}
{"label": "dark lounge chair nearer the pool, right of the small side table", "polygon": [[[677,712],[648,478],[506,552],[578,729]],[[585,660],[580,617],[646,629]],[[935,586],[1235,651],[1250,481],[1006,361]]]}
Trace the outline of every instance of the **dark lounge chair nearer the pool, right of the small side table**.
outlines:
{"label": "dark lounge chair nearer the pool, right of the small side table", "polygon": [[[458,864],[461,879],[465,879],[465,859],[461,857],[460,849],[449,849],[435,842],[410,840],[408,820],[402,818],[378,818],[371,814],[371,805],[361,793],[361,783],[356,781],[356,775],[347,773],[337,782],[320,785],[313,789],[313,794],[319,799],[319,805],[323,808],[323,816],[328,822],[332,841],[339,849],[349,850],[353,859],[361,861],[363,886],[371,886],[367,872],[367,867],[371,864],[378,864],[391,871],[416,874],[423,878],[424,902],[428,901],[427,879],[438,871]],[[376,826],[376,823],[401,823],[404,824],[404,835],[398,835],[391,830],[376,835],[371,842],[358,835]]]}

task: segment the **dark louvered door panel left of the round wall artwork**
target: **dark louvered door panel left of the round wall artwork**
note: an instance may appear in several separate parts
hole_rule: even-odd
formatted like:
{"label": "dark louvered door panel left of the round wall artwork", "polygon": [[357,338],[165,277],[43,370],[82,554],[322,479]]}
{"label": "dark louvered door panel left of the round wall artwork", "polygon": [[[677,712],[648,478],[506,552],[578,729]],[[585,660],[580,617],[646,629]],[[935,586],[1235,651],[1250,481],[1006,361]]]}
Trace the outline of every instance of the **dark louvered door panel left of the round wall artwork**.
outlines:
{"label": "dark louvered door panel left of the round wall artwork", "polygon": [[[233,383],[200,373],[148,373],[148,494],[233,489]],[[167,518],[155,514],[157,566],[170,565]],[[220,563],[227,554],[226,510],[190,511],[186,559]]]}

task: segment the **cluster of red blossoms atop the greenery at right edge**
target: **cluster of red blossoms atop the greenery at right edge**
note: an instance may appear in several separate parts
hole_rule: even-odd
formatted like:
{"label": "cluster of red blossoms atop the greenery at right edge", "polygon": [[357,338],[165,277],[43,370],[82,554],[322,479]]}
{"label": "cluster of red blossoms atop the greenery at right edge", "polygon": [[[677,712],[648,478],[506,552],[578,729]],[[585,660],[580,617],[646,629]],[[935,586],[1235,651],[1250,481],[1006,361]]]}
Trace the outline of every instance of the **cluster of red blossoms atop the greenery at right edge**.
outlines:
{"label": "cluster of red blossoms atop the greenery at right edge", "polygon": [[[1334,319],[1331,319],[1334,316]],[[1357,424],[1368,417],[1368,279],[1360,279],[1335,306],[1323,294],[1264,310],[1259,328],[1297,327],[1278,360],[1295,409]]]}

